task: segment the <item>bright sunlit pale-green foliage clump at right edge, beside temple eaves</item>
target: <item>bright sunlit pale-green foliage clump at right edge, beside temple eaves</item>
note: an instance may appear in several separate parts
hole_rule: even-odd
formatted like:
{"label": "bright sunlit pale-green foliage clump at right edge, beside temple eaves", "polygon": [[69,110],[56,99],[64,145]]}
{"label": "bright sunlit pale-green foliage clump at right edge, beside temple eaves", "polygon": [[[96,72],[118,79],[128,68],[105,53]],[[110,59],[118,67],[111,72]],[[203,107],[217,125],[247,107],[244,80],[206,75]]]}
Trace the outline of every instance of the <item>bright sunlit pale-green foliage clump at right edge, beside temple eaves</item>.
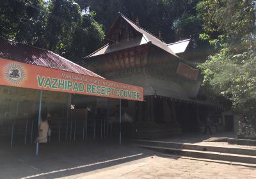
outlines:
{"label": "bright sunlit pale-green foliage clump at right edge, beside temple eaves", "polygon": [[234,107],[246,107],[248,102],[256,101],[255,47],[256,43],[251,42],[250,49],[241,54],[223,49],[200,65],[204,84],[209,83],[216,95],[228,98]]}

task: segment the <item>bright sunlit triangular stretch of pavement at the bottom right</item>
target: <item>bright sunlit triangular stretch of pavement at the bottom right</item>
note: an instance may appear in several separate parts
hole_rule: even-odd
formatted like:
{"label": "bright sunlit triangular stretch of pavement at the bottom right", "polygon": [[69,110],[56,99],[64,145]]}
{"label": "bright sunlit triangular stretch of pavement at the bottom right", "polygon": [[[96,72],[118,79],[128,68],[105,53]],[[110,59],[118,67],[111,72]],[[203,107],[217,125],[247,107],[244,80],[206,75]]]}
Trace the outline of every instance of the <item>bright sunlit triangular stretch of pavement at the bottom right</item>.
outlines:
{"label": "bright sunlit triangular stretch of pavement at the bottom right", "polygon": [[98,169],[89,173],[63,177],[65,179],[96,178],[256,178],[252,167],[230,166],[212,162],[175,159],[152,155],[118,166]]}

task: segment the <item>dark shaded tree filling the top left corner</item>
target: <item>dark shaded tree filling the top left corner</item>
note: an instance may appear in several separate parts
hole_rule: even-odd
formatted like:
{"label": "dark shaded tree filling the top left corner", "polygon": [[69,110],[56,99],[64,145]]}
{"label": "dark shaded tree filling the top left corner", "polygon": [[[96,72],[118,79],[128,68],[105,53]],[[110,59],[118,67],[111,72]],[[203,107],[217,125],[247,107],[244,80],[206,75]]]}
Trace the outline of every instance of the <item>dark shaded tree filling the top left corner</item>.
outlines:
{"label": "dark shaded tree filling the top left corner", "polygon": [[44,35],[47,9],[42,0],[0,3],[0,36],[34,45]]}

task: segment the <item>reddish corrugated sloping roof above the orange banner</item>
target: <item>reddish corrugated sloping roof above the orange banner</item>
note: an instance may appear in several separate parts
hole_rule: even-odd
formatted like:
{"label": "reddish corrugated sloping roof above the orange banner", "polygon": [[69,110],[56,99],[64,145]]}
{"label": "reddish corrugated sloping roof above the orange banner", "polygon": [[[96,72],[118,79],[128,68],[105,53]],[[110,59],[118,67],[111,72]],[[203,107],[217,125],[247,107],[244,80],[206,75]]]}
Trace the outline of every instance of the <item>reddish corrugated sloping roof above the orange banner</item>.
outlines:
{"label": "reddish corrugated sloping roof above the orange banner", "polygon": [[103,79],[100,75],[63,58],[54,52],[13,42],[11,40],[5,40],[3,38],[0,38],[0,57],[10,58],[31,65],[44,66],[56,70],[63,70]]}

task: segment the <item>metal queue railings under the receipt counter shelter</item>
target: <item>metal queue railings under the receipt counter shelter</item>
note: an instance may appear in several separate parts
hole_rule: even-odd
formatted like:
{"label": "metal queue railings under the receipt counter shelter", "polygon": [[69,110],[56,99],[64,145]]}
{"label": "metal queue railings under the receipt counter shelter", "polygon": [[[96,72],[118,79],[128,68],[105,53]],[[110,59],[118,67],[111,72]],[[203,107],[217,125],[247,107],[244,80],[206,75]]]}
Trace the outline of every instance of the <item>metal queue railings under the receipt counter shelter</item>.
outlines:
{"label": "metal queue railings under the receipt counter shelter", "polygon": [[[81,139],[82,141],[91,137],[92,139],[100,138],[112,138],[113,123],[110,123],[106,119],[87,119],[87,120],[66,120],[66,121],[51,121],[51,135],[48,137],[48,142],[51,143],[51,138],[54,138],[58,143],[66,136],[66,141],[76,141]],[[66,128],[66,131],[63,130]],[[65,132],[64,132],[65,131]],[[1,135],[1,133],[3,135]],[[65,135],[68,134],[67,135]],[[38,136],[37,119],[15,119],[2,123],[0,125],[0,135],[4,138],[10,137],[10,146],[13,147],[15,140],[19,138],[19,142],[30,144],[36,142]],[[23,138],[23,139],[22,139]],[[20,140],[22,139],[22,140]]]}

